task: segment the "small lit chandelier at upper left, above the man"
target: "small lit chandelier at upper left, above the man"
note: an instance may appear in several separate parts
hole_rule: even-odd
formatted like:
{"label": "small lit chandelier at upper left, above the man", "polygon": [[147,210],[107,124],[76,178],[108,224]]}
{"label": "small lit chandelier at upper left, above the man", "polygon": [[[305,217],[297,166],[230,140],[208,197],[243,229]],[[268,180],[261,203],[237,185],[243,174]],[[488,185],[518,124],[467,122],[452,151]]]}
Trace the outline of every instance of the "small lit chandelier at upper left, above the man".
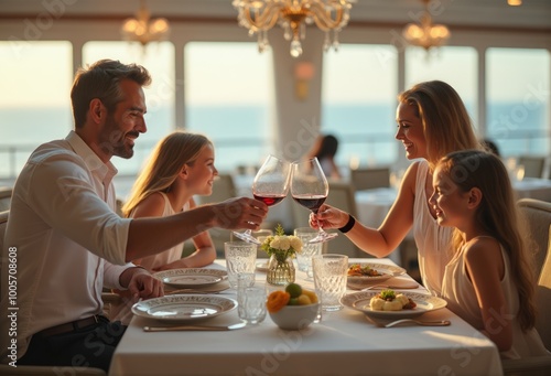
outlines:
{"label": "small lit chandelier at upper left, above the man", "polygon": [[151,20],[151,12],[141,0],[134,19],[127,19],[122,24],[122,36],[127,41],[140,42],[145,46],[149,42],[162,41],[169,35],[170,25],[166,19]]}

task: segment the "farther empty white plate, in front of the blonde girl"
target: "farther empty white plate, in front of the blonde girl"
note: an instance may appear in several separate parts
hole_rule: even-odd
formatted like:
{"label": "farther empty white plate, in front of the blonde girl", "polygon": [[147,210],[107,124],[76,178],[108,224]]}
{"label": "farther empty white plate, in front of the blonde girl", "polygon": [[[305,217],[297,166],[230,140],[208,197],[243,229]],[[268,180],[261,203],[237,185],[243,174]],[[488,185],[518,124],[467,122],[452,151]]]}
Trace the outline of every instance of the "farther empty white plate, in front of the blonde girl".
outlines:
{"label": "farther empty white plate, in front of the blonde girl", "polygon": [[171,287],[201,288],[223,281],[228,273],[226,270],[186,268],[159,271],[153,276]]}

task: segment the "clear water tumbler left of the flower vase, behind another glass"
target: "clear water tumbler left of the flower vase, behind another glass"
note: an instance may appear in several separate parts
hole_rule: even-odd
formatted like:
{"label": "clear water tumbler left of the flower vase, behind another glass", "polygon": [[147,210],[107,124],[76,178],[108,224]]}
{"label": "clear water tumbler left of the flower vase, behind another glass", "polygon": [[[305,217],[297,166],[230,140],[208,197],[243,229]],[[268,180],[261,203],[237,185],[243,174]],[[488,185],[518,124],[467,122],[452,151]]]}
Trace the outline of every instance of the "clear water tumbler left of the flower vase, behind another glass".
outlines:
{"label": "clear water tumbler left of the flower vase, behind another glass", "polygon": [[255,272],[257,262],[257,245],[246,241],[224,243],[228,282],[237,289],[237,276],[242,272]]}

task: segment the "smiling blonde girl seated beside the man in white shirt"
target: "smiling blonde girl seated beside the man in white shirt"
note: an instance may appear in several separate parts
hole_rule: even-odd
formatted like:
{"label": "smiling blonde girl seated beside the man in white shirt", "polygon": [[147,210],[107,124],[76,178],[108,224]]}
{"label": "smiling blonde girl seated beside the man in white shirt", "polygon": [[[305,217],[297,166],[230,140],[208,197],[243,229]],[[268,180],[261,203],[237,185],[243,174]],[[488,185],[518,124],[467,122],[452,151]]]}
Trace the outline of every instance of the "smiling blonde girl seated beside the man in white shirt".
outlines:
{"label": "smiling blonde girl seated beside the man in white shirt", "polygon": [[[218,171],[214,165],[214,146],[203,135],[173,132],[155,147],[151,159],[122,206],[126,217],[164,217],[195,207],[194,195],[210,195]],[[182,258],[183,244],[132,262],[150,271],[197,268],[212,264],[216,249],[208,232],[192,238],[196,250]],[[127,324],[132,301],[119,292],[125,303],[111,307],[112,320]]]}

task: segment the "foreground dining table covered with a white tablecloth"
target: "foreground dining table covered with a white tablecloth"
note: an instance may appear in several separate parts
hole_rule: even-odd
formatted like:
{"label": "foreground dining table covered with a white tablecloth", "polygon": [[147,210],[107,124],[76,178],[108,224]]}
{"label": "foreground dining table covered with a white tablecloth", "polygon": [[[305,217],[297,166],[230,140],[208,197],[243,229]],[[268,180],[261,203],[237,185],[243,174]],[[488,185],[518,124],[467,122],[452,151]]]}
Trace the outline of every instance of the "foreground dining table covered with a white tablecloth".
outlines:
{"label": "foreground dining table covered with a white tablecloth", "polygon": [[[396,266],[390,259],[361,258],[349,262]],[[225,260],[217,260],[212,268],[224,269]],[[386,282],[392,280],[410,284],[413,281],[406,273]],[[268,290],[284,288],[267,286],[266,272],[260,270],[256,271],[256,283]],[[314,289],[313,280],[299,270],[296,283]],[[408,291],[429,294],[421,286]],[[350,293],[358,291],[348,288],[346,296]],[[236,290],[229,288],[210,297],[236,300]],[[147,325],[174,324],[134,315],[115,351],[109,375],[503,374],[495,344],[445,307],[426,310],[417,319],[449,320],[451,325],[379,327],[364,312],[344,307],[322,312],[318,322],[300,331],[279,329],[268,314],[259,324],[231,331],[145,332]],[[233,309],[201,324],[238,322],[237,309]]]}

